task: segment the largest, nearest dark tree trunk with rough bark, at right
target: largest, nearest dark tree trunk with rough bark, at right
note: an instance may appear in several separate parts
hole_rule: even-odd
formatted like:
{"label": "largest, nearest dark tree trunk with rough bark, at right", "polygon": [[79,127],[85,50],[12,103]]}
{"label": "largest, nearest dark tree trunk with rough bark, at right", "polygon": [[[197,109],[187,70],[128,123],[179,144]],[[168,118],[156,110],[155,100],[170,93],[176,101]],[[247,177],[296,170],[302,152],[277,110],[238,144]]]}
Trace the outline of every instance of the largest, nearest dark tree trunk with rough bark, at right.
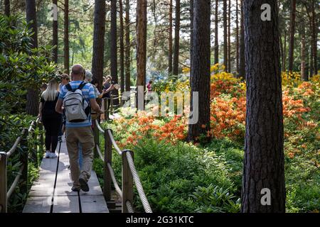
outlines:
{"label": "largest, nearest dark tree trunk with rough bark, at right", "polygon": [[[277,0],[271,21],[260,19],[265,0],[246,0],[247,114],[242,212],[285,211],[282,87]],[[270,204],[269,204],[270,201]]]}

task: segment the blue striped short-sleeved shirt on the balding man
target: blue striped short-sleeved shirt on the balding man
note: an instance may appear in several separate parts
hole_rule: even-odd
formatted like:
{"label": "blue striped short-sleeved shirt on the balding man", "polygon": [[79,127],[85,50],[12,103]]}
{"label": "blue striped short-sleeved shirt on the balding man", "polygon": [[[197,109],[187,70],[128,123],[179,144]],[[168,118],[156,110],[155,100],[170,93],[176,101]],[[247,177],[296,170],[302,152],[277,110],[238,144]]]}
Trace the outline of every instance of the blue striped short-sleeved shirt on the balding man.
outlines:
{"label": "blue striped short-sleeved shirt on the balding man", "polygon": [[[79,87],[82,81],[72,81],[69,84],[71,85],[72,89],[76,89]],[[95,99],[95,89],[93,88],[92,84],[87,83],[85,84],[85,87],[82,88],[82,95],[85,97],[85,100],[87,101],[88,104],[90,104],[90,99]],[[68,89],[65,87],[65,85],[62,87],[60,94],[59,94],[59,99],[64,99],[65,94],[67,94]],[[91,126],[91,114],[87,116],[87,120],[82,121],[82,122],[69,122],[67,121],[65,123],[66,128],[79,128],[79,127],[85,127],[85,126]]]}

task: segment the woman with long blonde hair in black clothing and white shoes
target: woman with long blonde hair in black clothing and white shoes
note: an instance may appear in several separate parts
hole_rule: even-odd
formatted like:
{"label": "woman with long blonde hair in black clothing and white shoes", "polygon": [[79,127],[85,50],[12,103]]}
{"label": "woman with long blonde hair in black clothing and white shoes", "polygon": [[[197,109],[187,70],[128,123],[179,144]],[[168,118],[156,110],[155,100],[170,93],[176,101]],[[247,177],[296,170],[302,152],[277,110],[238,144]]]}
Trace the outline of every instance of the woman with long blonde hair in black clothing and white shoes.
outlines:
{"label": "woman with long blonde hair in black clothing and white shoes", "polygon": [[39,115],[46,130],[46,157],[57,157],[55,148],[58,145],[58,133],[61,124],[61,114],[55,112],[55,104],[58,101],[58,82],[50,80],[48,88],[41,94]]}

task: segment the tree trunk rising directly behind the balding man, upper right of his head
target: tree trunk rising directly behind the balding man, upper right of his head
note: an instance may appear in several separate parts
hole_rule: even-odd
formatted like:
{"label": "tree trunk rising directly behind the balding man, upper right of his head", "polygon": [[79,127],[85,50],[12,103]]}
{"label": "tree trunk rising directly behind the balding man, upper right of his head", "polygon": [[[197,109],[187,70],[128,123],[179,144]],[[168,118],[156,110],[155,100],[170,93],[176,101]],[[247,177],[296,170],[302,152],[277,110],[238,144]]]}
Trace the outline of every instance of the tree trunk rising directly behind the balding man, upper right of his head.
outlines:
{"label": "tree trunk rising directly behind the balding man, upper right of his head", "polygon": [[95,0],[95,18],[93,26],[92,74],[102,90],[105,53],[105,1]]}

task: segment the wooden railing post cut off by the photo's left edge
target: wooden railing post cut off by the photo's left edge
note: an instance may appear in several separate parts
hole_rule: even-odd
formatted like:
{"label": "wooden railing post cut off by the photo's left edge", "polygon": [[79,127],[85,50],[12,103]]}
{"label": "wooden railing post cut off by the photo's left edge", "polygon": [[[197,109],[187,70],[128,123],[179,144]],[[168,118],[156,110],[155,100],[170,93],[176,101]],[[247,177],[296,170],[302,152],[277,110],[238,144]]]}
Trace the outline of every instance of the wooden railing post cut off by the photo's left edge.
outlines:
{"label": "wooden railing post cut off by the photo's left edge", "polygon": [[6,153],[0,152],[0,213],[7,212],[6,187]]}

